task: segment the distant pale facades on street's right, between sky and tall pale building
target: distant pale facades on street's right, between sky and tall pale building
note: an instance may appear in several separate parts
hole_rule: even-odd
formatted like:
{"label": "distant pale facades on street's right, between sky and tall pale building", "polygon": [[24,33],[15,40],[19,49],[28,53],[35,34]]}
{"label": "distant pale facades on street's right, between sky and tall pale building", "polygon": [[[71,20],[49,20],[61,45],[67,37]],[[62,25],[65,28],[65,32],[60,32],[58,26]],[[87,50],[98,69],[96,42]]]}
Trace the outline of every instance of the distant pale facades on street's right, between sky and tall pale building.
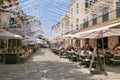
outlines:
{"label": "distant pale facades on street's right, between sky and tall pale building", "polygon": [[53,25],[51,28],[51,37],[55,42],[64,42],[65,47],[69,46],[69,39],[65,40],[62,38],[63,35],[70,31],[70,14],[69,12],[64,13],[59,22]]}

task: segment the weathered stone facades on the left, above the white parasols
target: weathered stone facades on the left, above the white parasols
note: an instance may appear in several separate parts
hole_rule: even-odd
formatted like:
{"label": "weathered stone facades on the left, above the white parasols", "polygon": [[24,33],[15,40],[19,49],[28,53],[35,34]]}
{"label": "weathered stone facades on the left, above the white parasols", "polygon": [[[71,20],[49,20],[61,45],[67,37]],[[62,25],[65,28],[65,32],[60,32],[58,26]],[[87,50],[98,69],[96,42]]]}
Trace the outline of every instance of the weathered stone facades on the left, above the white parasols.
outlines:
{"label": "weathered stone facades on the left, above the white parasols", "polygon": [[26,15],[18,6],[17,0],[1,0],[0,4],[2,11],[0,12],[0,28],[13,30],[24,36],[43,35],[40,20]]}

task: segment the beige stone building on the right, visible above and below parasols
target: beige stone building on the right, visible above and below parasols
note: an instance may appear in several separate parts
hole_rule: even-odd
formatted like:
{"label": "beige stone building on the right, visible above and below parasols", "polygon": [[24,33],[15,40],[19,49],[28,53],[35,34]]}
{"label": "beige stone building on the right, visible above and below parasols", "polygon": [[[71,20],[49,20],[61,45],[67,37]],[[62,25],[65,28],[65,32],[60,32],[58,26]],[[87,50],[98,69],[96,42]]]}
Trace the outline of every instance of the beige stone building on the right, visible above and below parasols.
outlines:
{"label": "beige stone building on the right, visible above and below parasols", "polygon": [[[77,7],[78,5],[80,6]],[[78,30],[72,29],[72,33],[87,31],[119,22],[119,5],[119,0],[71,0],[71,28],[77,28],[77,22],[80,21]],[[77,8],[79,8],[79,20],[77,20]],[[100,39],[86,39],[84,41],[85,44],[92,46],[102,46]],[[104,43],[105,48],[112,49],[116,44],[120,44],[120,37],[106,37],[104,38]]]}

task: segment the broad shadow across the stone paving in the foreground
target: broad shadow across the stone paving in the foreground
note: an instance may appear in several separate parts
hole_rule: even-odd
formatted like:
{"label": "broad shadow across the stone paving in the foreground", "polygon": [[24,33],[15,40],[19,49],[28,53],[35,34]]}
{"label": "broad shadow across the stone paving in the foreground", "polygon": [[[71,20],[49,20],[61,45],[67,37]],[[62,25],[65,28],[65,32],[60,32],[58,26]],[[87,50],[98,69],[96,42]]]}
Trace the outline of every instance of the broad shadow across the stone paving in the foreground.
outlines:
{"label": "broad shadow across the stone paving in the foreground", "polygon": [[0,80],[90,80],[88,74],[66,62],[35,61],[17,65],[1,65]]}

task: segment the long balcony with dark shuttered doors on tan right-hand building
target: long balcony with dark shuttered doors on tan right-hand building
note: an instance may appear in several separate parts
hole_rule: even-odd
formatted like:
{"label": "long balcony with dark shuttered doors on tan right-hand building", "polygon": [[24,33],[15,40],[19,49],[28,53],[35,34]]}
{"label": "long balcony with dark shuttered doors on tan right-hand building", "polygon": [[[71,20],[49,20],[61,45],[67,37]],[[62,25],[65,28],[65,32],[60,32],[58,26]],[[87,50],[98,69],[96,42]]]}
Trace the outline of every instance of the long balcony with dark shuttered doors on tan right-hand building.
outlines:
{"label": "long balcony with dark shuttered doors on tan right-hand building", "polygon": [[81,27],[83,28],[95,27],[95,26],[97,27],[99,25],[106,25],[119,20],[120,20],[120,9],[116,9],[83,23]]}

